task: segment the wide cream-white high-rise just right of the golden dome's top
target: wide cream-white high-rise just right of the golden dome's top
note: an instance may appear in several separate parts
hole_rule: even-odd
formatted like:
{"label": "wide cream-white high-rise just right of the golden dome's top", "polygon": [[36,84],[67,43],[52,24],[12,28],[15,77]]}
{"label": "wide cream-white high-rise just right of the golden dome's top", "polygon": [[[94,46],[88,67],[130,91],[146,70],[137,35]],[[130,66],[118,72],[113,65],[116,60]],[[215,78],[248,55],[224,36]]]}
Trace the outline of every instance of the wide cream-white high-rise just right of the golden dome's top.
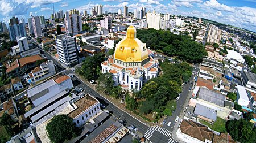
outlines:
{"label": "wide cream-white high-rise just right of the golden dome's top", "polygon": [[147,13],[148,28],[160,29],[161,15],[155,13]]}

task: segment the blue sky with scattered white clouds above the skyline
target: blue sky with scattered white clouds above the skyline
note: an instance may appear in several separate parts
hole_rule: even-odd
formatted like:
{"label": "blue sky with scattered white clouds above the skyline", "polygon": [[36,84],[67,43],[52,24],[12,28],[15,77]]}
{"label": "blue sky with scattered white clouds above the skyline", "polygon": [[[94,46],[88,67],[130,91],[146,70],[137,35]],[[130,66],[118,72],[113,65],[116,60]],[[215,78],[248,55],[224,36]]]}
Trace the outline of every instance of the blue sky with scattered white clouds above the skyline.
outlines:
{"label": "blue sky with scattered white clouds above the skyline", "polygon": [[11,16],[28,18],[30,14],[44,15],[49,18],[55,11],[87,10],[94,5],[103,5],[103,11],[117,12],[128,6],[129,11],[141,6],[146,11],[170,13],[184,16],[196,16],[235,25],[256,32],[256,0],[0,0],[0,21],[7,22]]}

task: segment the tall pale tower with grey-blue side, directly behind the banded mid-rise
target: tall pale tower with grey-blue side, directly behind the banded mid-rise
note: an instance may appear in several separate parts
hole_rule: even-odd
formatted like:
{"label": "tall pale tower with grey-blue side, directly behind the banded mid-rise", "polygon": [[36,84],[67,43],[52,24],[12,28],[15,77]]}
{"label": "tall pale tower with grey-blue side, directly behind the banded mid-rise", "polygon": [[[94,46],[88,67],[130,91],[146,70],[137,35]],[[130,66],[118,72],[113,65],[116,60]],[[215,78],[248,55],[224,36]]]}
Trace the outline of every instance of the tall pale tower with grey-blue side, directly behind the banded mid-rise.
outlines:
{"label": "tall pale tower with grey-blue side, directly behind the banded mid-rise", "polygon": [[82,18],[77,14],[69,14],[65,12],[65,31],[66,33],[73,33],[74,35],[82,31]]}

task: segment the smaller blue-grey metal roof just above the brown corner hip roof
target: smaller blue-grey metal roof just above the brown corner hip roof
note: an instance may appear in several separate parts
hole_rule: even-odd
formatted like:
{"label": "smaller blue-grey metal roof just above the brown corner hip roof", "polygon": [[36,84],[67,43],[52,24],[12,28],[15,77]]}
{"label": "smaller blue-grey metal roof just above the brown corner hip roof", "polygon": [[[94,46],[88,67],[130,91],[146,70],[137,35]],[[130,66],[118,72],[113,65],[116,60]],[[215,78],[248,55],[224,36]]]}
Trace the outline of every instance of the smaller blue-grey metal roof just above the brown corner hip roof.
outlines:
{"label": "smaller blue-grey metal roof just above the brown corner hip roof", "polygon": [[194,111],[195,114],[203,116],[208,119],[212,119],[216,121],[217,119],[217,111],[214,109],[211,109],[209,107],[200,105],[199,103],[196,104],[196,109]]}

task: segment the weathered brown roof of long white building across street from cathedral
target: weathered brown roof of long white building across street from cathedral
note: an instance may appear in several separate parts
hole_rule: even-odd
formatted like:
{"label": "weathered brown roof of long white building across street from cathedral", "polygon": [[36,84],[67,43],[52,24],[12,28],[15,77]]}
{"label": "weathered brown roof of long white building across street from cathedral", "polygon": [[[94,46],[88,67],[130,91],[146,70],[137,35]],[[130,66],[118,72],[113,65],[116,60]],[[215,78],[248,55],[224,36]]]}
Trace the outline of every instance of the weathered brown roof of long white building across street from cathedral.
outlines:
{"label": "weathered brown roof of long white building across street from cathedral", "polygon": [[89,94],[87,94],[86,96],[80,98],[74,103],[77,106],[77,109],[69,113],[68,116],[71,118],[75,118],[77,115],[81,114],[82,112],[84,112],[86,109],[88,109],[90,106],[93,106],[97,102],[98,101],[96,99],[94,99]]}

